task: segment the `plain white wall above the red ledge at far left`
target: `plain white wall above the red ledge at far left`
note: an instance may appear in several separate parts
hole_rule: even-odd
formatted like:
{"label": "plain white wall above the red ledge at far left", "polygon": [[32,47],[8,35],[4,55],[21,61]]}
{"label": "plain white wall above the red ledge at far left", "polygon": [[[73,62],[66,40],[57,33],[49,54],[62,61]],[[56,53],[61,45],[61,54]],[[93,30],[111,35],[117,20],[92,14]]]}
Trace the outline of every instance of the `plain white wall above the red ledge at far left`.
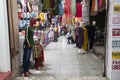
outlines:
{"label": "plain white wall above the red ledge at far left", "polygon": [[0,37],[0,72],[8,72],[11,67],[6,0],[0,0]]}

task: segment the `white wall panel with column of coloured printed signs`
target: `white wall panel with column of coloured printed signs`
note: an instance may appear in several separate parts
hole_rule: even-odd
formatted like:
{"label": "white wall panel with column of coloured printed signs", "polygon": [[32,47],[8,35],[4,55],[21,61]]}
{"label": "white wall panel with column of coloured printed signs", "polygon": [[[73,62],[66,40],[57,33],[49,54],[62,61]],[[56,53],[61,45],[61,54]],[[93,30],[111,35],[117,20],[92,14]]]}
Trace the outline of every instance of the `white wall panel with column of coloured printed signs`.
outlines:
{"label": "white wall panel with column of coloured printed signs", "polygon": [[120,80],[120,0],[109,0],[106,67],[110,80]]}

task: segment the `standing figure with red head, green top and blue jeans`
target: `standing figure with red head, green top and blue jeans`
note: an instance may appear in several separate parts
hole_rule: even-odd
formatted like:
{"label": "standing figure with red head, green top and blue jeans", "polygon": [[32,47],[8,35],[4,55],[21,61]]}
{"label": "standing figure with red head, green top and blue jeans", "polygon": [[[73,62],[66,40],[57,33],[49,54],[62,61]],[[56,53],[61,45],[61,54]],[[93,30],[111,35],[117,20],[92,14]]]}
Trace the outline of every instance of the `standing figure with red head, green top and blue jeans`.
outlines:
{"label": "standing figure with red head, green top and blue jeans", "polygon": [[35,25],[36,20],[34,18],[31,18],[30,25],[27,26],[25,31],[25,40],[24,40],[24,55],[23,55],[23,71],[24,76],[29,76],[29,65],[30,65],[30,57],[31,57],[31,51],[34,44],[33,39],[33,26]]}

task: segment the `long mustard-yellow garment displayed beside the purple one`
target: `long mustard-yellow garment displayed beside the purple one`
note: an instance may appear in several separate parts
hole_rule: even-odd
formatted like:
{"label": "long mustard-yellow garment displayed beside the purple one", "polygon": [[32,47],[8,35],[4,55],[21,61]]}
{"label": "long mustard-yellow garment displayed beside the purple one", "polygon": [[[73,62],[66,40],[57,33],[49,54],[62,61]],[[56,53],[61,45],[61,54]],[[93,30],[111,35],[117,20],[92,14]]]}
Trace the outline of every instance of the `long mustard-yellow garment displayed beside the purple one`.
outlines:
{"label": "long mustard-yellow garment displayed beside the purple one", "polygon": [[83,49],[83,50],[87,50],[87,44],[88,44],[88,31],[87,31],[87,29],[85,28],[84,25],[83,25],[82,29],[83,29],[83,38],[84,38],[83,44],[82,44],[82,49]]}

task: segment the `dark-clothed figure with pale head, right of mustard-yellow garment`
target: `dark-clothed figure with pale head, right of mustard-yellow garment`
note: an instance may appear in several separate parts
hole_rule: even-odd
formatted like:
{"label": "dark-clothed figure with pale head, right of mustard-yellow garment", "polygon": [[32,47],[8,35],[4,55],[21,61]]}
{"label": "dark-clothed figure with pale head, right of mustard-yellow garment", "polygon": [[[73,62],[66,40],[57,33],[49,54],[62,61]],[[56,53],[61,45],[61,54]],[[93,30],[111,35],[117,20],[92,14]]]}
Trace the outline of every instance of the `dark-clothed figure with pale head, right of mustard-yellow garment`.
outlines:
{"label": "dark-clothed figure with pale head, right of mustard-yellow garment", "polygon": [[94,44],[94,37],[95,37],[95,32],[96,32],[96,22],[92,22],[92,26],[89,28],[89,48],[92,51],[93,49],[93,44]]}

